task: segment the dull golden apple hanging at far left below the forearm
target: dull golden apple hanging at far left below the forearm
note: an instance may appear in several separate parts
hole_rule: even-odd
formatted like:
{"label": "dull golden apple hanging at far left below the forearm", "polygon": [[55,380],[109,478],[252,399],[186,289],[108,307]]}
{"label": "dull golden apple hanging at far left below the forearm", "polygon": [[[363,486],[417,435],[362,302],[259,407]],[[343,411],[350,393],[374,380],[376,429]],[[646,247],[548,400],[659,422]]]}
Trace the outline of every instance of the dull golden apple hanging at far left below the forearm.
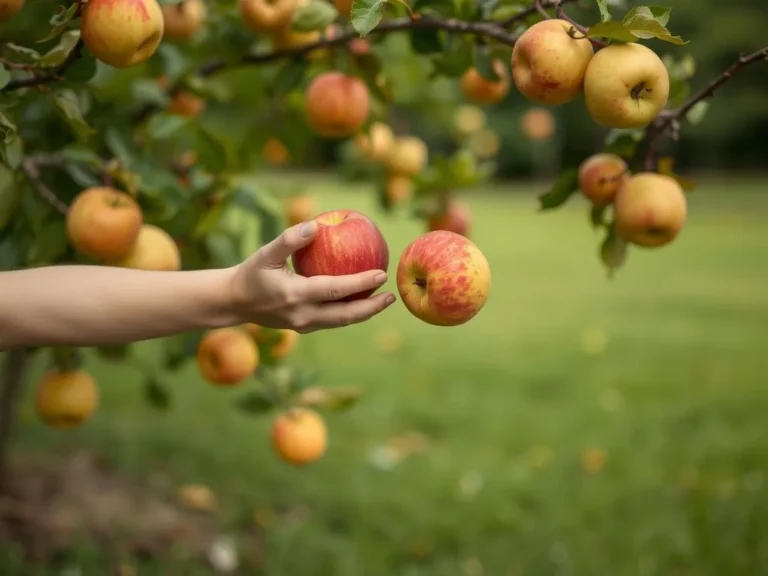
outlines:
{"label": "dull golden apple hanging at far left below the forearm", "polygon": [[77,428],[96,411],[99,388],[84,370],[51,370],[35,391],[35,410],[48,426]]}

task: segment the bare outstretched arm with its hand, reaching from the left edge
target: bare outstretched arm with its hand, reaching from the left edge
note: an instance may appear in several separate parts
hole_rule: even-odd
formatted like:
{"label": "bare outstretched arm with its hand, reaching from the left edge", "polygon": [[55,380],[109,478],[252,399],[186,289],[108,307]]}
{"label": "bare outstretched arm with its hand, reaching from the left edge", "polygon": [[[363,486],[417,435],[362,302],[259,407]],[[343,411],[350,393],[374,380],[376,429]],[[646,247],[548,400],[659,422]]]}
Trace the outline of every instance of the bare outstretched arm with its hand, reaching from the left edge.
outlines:
{"label": "bare outstretched arm with its hand, reaching from the left edge", "polygon": [[368,320],[394,302],[389,293],[329,302],[381,286],[385,271],[313,278],[292,273],[288,257],[316,232],[314,222],[289,228],[232,268],[0,272],[0,350],[122,344],[244,322],[306,333]]}

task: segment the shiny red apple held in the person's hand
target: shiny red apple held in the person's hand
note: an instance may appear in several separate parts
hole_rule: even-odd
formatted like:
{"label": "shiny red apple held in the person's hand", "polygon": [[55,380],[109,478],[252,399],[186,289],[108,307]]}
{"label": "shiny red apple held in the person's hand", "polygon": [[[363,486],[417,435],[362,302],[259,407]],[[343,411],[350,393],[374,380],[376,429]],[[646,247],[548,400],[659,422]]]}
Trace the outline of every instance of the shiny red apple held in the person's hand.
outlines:
{"label": "shiny red apple held in the person's hand", "polygon": [[[293,268],[302,276],[344,276],[368,270],[387,271],[389,247],[376,224],[354,210],[333,210],[315,217],[315,239],[291,256]],[[341,298],[350,302],[368,298],[376,290],[365,290]]]}

